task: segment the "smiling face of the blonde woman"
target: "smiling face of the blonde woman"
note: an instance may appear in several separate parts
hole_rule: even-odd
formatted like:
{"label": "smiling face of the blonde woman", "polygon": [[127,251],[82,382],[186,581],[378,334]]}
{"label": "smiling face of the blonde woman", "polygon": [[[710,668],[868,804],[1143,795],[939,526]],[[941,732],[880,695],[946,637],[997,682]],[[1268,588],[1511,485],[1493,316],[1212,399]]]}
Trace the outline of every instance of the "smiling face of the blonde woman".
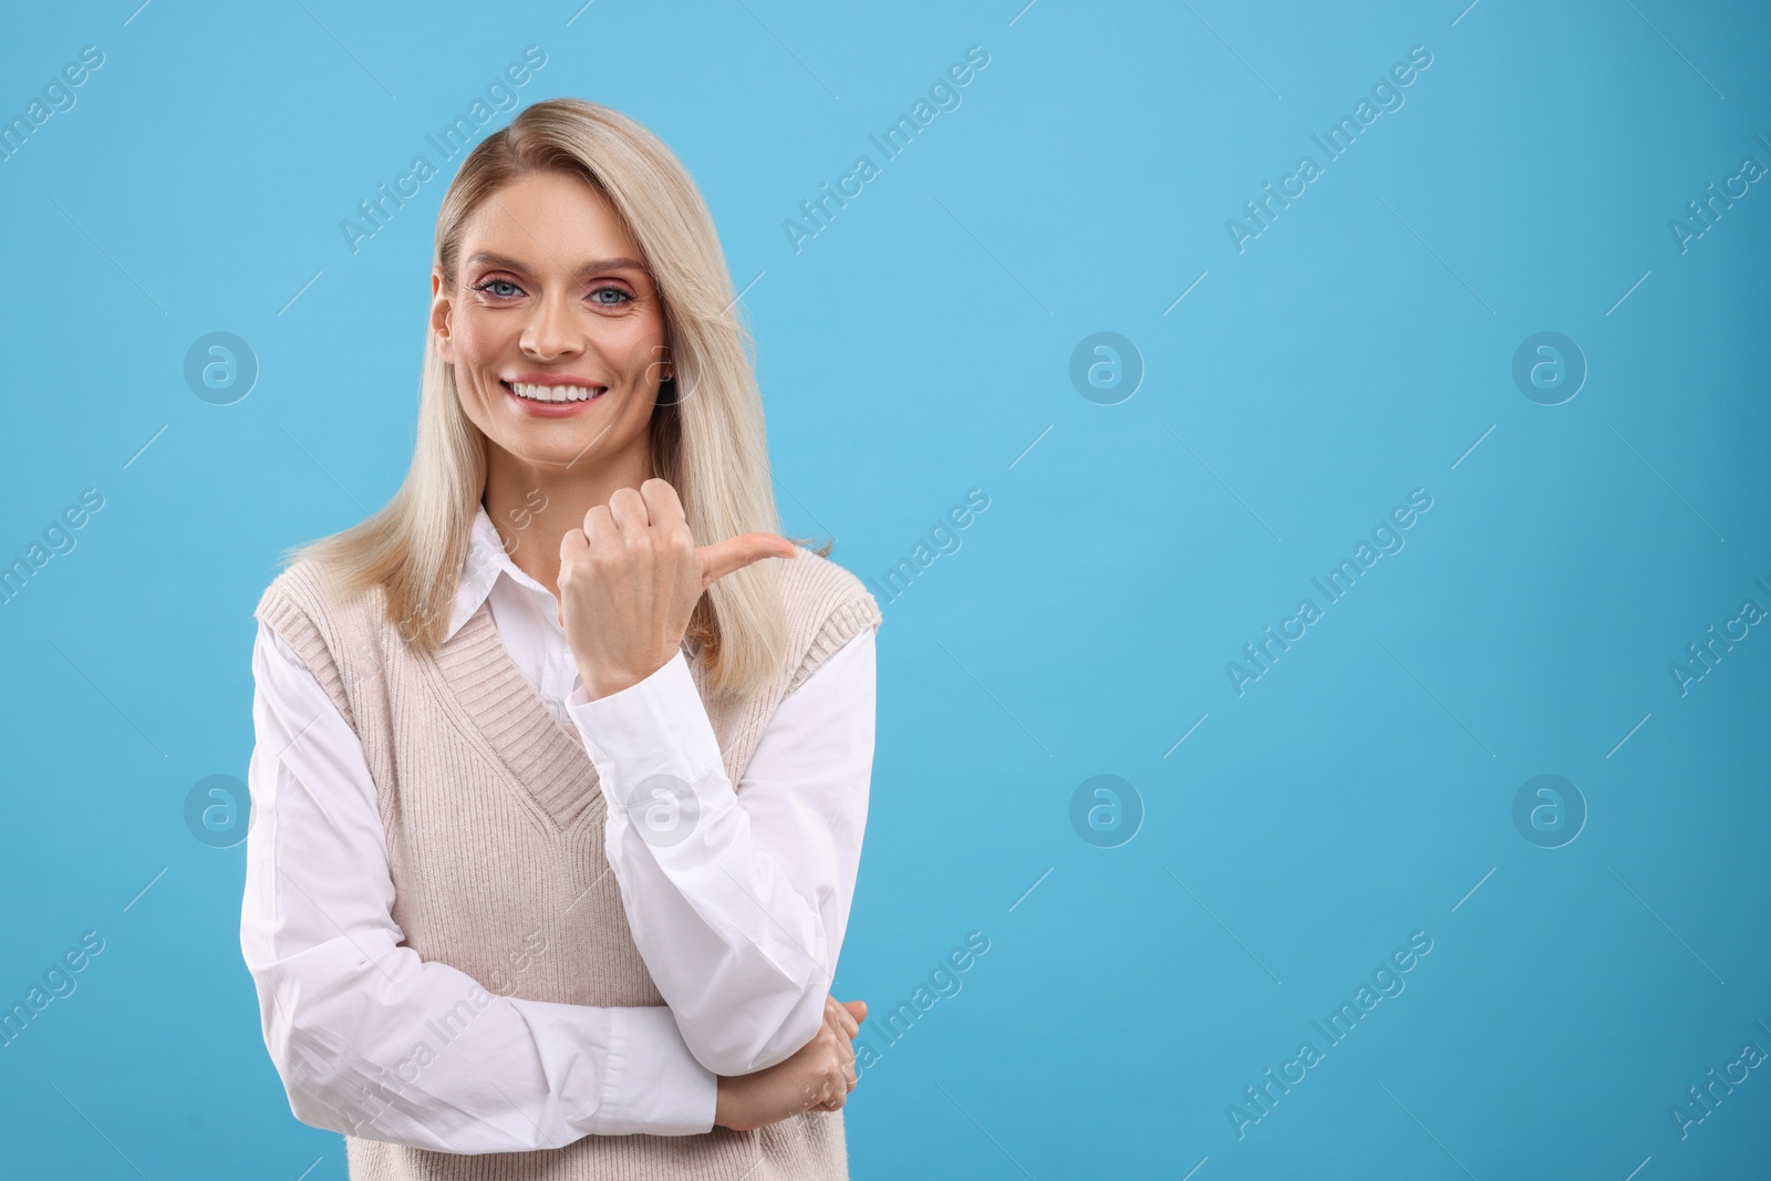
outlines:
{"label": "smiling face of the blonde woman", "polygon": [[430,276],[437,352],[462,411],[537,467],[650,475],[664,308],[639,248],[584,181],[522,175],[462,227],[453,289]]}

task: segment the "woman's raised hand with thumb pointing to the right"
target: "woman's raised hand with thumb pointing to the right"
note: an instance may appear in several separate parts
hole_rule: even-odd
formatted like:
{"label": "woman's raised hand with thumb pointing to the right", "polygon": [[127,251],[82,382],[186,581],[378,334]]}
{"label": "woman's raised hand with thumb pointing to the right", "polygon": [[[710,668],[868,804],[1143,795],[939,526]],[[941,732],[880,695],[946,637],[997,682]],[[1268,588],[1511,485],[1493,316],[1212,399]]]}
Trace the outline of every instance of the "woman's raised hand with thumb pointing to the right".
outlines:
{"label": "woman's raised hand with thumb pointing to the right", "polygon": [[638,685],[682,648],[701,593],[763,558],[792,558],[776,533],[696,545],[677,489],[616,489],[560,538],[560,625],[590,699]]}

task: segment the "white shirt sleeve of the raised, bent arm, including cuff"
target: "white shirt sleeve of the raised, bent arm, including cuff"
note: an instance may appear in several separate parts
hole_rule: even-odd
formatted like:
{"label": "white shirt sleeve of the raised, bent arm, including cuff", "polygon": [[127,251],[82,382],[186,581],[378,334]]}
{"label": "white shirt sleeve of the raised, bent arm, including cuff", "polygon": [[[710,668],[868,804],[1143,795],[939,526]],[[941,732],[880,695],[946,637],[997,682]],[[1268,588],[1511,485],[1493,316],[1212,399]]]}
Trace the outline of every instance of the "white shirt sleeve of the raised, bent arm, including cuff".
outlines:
{"label": "white shirt sleeve of the raised, bent arm, including cuff", "polygon": [[864,629],[790,694],[737,786],[682,653],[568,714],[607,800],[604,846],[634,944],[694,1057],[774,1066],[824,1022],[873,770]]}

